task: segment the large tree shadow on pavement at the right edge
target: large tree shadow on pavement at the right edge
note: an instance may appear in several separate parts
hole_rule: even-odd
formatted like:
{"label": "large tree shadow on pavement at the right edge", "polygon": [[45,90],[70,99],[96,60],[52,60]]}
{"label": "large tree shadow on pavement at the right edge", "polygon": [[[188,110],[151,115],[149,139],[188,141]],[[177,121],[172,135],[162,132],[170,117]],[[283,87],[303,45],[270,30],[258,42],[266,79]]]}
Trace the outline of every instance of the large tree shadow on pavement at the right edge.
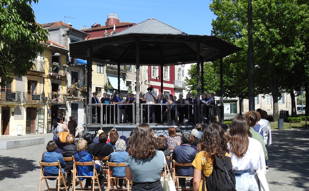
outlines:
{"label": "large tree shadow on pavement at the right edge", "polygon": [[[267,148],[269,168],[276,168],[284,185],[309,189],[309,129],[275,130],[272,139],[272,145]],[[285,182],[285,177],[293,181]]]}

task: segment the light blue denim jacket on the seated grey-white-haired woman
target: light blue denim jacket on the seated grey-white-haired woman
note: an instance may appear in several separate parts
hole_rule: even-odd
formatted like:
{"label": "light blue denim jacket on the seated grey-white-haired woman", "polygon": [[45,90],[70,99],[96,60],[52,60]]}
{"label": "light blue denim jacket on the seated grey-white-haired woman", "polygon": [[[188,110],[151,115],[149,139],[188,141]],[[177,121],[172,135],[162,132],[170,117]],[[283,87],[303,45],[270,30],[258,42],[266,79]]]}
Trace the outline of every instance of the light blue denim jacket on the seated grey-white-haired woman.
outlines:
{"label": "light blue denim jacket on the seated grey-white-haired woman", "polygon": [[[123,150],[117,150],[110,155],[109,162],[111,163],[125,163],[125,159],[128,156],[128,152]],[[115,177],[125,177],[125,167],[113,167],[112,175]]]}

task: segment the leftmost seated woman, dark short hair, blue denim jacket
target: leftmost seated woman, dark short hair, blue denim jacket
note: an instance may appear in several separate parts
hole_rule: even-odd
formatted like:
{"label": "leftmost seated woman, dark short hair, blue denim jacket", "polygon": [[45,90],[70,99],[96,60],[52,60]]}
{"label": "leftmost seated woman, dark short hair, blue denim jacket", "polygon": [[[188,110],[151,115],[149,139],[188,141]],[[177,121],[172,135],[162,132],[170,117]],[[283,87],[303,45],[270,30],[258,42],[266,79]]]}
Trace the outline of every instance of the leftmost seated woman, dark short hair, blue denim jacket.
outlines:
{"label": "leftmost seated woman, dark short hair, blue denim jacket", "polygon": [[[72,176],[71,170],[69,166],[64,162],[62,155],[56,152],[57,146],[54,141],[49,141],[46,145],[46,150],[42,155],[41,162],[44,163],[53,163],[57,162],[59,160],[61,165],[61,170],[63,173],[64,178],[66,179],[66,171],[68,171],[69,175]],[[59,168],[56,166],[46,166],[44,167],[44,176],[58,176]],[[49,180],[56,180],[56,178],[48,178]],[[63,187],[64,184],[62,182],[62,179],[60,180],[60,186]]]}

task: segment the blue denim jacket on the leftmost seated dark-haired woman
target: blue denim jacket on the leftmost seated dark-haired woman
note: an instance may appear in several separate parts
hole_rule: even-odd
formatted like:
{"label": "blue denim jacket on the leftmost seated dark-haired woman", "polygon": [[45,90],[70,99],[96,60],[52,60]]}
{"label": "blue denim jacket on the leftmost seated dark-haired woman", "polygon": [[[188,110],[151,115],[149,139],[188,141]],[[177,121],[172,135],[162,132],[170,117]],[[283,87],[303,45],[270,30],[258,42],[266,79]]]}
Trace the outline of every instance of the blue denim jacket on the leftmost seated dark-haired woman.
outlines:
{"label": "blue denim jacket on the leftmost seated dark-haired woman", "polygon": [[[46,151],[43,154],[42,162],[44,162],[44,163],[53,163],[53,162],[57,162],[58,160],[59,160],[60,165],[61,165],[62,173],[65,173],[64,167],[65,167],[66,163],[64,162],[61,154],[59,154],[55,151],[52,151],[52,152]],[[51,174],[58,174],[59,168],[56,167],[56,166],[53,166],[53,167],[46,166],[46,167],[44,167],[44,172],[51,173]]]}

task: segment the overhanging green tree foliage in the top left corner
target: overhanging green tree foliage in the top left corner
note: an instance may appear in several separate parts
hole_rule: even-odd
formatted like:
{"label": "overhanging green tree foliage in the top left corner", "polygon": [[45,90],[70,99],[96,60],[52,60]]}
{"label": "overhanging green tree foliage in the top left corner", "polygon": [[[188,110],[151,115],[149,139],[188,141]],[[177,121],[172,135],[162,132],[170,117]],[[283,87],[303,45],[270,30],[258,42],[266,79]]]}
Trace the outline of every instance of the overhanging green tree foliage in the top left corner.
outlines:
{"label": "overhanging green tree foliage in the top left corner", "polygon": [[44,53],[41,41],[48,31],[36,23],[31,3],[38,0],[1,0],[0,11],[0,78],[1,85],[11,81],[11,73],[27,74],[37,53]]}

